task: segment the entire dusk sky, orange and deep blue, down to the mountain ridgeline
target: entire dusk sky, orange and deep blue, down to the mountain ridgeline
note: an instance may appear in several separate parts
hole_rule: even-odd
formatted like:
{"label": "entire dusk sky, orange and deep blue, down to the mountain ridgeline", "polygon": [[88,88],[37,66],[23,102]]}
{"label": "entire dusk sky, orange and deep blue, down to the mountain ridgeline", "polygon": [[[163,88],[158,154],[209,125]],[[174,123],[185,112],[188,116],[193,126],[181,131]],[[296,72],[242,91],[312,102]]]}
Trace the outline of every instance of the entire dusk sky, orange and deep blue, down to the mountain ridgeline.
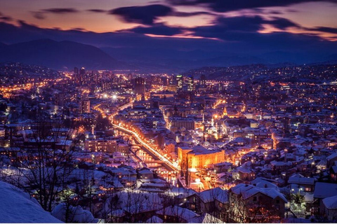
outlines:
{"label": "entire dusk sky, orange and deep blue, down to the mountain ridgeline", "polygon": [[337,1],[0,1],[0,42],[333,52]]}

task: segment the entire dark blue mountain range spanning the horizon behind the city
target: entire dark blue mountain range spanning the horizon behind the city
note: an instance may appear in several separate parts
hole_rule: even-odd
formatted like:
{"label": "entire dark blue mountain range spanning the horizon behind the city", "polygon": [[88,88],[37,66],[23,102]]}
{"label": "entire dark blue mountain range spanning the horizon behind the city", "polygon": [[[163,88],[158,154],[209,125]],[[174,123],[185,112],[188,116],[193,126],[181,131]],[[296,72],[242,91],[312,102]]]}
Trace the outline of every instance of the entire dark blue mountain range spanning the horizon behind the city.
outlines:
{"label": "entire dark blue mountain range spanning the horizon behind the city", "polygon": [[201,66],[234,66],[244,64],[296,64],[336,61],[337,55],[293,52],[267,52],[257,56],[223,51],[177,50],[167,48],[97,48],[74,41],[39,39],[22,43],[0,43],[0,62],[22,62],[70,70],[133,70],[143,72],[180,73]]}

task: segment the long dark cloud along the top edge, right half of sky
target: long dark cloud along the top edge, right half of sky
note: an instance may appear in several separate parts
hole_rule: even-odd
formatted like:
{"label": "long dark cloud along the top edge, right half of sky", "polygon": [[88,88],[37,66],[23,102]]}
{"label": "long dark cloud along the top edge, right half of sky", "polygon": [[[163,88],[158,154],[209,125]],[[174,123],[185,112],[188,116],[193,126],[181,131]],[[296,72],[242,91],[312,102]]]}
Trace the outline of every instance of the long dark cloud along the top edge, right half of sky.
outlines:
{"label": "long dark cloud along the top edge, right half of sky", "polygon": [[[295,3],[312,2],[314,0],[166,0],[173,5],[193,6],[205,4],[217,12],[241,10],[249,8],[263,8],[272,6],[289,6]],[[337,0],[324,0],[337,3]],[[317,2],[317,1],[315,1]],[[323,2],[323,1],[320,1]]]}

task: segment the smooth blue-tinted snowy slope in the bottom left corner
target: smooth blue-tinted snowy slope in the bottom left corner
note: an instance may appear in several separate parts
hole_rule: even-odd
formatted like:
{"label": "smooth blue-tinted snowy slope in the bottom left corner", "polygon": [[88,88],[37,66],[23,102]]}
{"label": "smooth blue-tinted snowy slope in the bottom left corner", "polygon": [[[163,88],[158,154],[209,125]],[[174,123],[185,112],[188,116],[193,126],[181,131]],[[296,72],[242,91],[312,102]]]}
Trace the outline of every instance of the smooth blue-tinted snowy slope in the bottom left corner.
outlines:
{"label": "smooth blue-tinted snowy slope in the bottom left corner", "polygon": [[62,223],[27,193],[0,181],[0,223]]}

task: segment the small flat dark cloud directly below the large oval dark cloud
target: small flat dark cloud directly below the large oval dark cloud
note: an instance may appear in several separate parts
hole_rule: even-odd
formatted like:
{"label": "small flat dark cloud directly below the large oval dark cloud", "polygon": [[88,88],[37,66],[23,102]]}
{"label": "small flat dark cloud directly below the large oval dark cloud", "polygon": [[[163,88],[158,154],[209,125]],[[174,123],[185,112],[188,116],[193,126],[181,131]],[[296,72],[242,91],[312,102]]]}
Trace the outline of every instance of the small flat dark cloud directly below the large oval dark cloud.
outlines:
{"label": "small flat dark cloud directly below the large oval dark cloud", "polygon": [[183,29],[181,27],[168,27],[164,25],[164,23],[156,23],[151,27],[135,27],[133,29],[124,29],[121,31],[131,31],[136,34],[154,34],[164,36],[173,36],[183,33]]}

